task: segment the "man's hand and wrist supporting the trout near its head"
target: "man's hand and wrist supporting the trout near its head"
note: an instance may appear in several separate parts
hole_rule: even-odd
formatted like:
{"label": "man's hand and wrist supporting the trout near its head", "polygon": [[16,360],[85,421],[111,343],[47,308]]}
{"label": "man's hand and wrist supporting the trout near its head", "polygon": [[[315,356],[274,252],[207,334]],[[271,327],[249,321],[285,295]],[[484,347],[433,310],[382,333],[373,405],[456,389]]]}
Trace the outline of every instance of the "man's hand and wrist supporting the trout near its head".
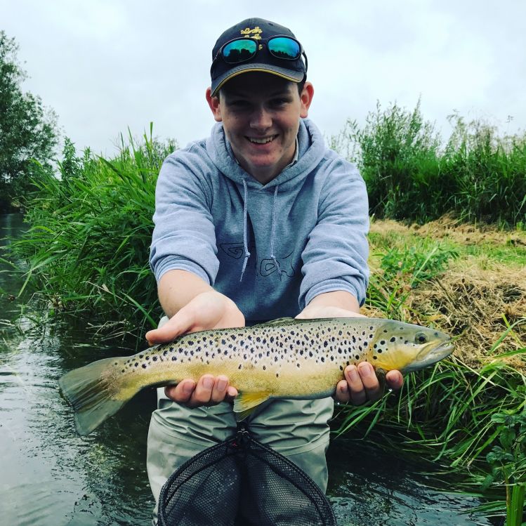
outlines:
{"label": "man's hand and wrist supporting the trout near its head", "polygon": [[[358,310],[359,305],[354,296],[348,292],[334,291],[313,298],[313,301],[296,318],[306,320],[329,317],[366,317]],[[339,381],[336,385],[334,399],[337,402],[362,405],[382,397],[383,386],[380,386],[374,367],[369,362],[362,362],[357,366],[348,365],[343,374],[346,379]],[[389,371],[386,374],[388,388],[399,390],[402,388],[402,383],[404,383],[404,378],[400,371]]]}

